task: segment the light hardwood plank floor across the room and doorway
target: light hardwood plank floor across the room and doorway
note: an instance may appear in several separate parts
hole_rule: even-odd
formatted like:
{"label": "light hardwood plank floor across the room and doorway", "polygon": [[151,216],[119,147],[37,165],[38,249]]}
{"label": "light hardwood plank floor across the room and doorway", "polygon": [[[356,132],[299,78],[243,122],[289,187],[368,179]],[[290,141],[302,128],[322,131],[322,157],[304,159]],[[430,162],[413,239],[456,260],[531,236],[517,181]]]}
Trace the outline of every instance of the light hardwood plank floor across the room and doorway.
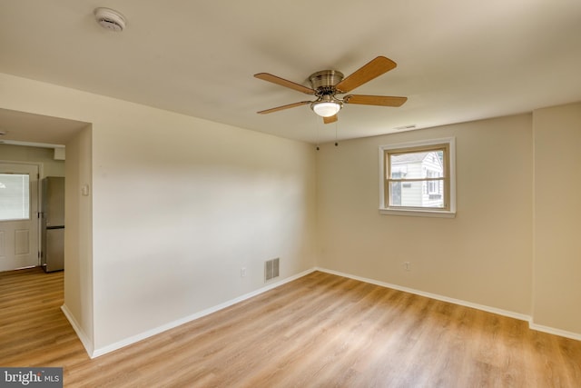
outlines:
{"label": "light hardwood plank floor across the room and doorway", "polygon": [[63,273],[0,274],[0,366],[63,366],[65,387],[581,386],[581,342],[320,272],[94,360],[62,303]]}

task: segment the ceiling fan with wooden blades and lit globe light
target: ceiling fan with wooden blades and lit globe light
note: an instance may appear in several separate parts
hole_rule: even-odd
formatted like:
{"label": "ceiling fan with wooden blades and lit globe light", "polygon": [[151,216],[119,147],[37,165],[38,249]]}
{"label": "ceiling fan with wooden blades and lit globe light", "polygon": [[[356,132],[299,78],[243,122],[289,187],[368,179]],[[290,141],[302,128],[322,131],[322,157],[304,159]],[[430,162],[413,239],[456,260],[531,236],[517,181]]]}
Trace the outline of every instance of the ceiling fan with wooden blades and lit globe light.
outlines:
{"label": "ceiling fan with wooden blades and lit globe light", "polygon": [[296,84],[276,75],[268,73],[259,73],[254,75],[264,81],[276,85],[289,87],[306,95],[315,95],[315,101],[300,101],[299,103],[277,106],[266,109],[258,114],[271,114],[283,109],[293,108],[295,106],[310,104],[310,109],[323,118],[325,124],[334,123],[338,120],[337,113],[343,107],[343,104],[363,104],[378,106],[401,106],[408,97],[392,97],[387,95],[345,95],[342,98],[337,95],[344,95],[351,90],[363,85],[373,78],[378,77],[397,66],[395,62],[385,56],[378,56],[363,65],[353,74],[344,77],[342,73],[336,70],[322,70],[310,75],[309,81],[311,87]]}

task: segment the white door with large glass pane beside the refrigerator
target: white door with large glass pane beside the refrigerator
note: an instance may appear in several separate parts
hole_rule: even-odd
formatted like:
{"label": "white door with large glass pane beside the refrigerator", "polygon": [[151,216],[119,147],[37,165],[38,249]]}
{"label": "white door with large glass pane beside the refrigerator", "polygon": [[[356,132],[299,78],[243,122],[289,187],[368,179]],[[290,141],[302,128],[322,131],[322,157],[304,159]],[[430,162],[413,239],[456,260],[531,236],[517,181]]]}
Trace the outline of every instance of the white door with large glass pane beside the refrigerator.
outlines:
{"label": "white door with large glass pane beside the refrigerator", "polygon": [[39,264],[38,165],[0,163],[0,271]]}

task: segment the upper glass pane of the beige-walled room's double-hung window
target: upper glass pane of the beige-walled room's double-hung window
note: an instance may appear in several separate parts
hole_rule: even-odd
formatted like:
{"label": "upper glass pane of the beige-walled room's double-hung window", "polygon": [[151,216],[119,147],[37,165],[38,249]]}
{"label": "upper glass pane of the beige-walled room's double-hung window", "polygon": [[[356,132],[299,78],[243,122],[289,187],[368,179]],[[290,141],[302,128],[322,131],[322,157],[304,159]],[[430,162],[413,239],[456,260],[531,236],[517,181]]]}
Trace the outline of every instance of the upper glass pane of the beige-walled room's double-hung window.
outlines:
{"label": "upper glass pane of the beige-walled room's double-hung window", "polygon": [[444,151],[390,154],[391,179],[424,179],[444,176]]}

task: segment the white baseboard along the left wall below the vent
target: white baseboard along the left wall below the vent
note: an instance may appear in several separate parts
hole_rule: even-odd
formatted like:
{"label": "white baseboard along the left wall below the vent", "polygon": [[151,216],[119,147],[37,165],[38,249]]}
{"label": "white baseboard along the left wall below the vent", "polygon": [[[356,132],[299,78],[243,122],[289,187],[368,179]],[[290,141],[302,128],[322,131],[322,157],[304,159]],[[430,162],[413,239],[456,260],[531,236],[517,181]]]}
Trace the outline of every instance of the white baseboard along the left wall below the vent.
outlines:
{"label": "white baseboard along the left wall below the vent", "polygon": [[[116,343],[112,343],[110,345],[104,346],[104,347],[99,348],[99,349],[95,349],[93,353],[89,353],[89,356],[91,358],[94,358],[94,357],[99,357],[100,355],[103,355],[105,353],[111,353],[111,352],[113,352],[113,351],[115,351],[117,349],[123,348],[124,346],[130,345],[132,343],[137,343],[137,342],[142,341],[142,340],[144,340],[146,338],[149,338],[149,337],[151,337],[151,336],[153,336],[155,334],[163,333],[163,332],[165,332],[167,330],[173,329],[173,328],[175,328],[177,326],[182,325],[183,323],[189,323],[189,322],[192,322],[192,321],[194,321],[196,319],[199,319],[199,318],[202,318],[202,317],[204,317],[206,315],[209,315],[211,313],[216,313],[216,312],[218,312],[218,311],[220,311],[222,309],[225,309],[226,307],[230,307],[232,304],[240,303],[242,301],[245,301],[247,299],[250,299],[253,296],[257,296],[257,295],[259,295],[261,293],[265,293],[265,292],[267,292],[267,291],[269,291],[269,290],[271,290],[273,288],[276,288],[276,287],[278,287],[278,286],[280,286],[282,284],[287,284],[289,282],[292,282],[294,280],[297,280],[297,279],[299,279],[299,278],[301,278],[301,277],[303,277],[303,276],[305,276],[307,274],[310,274],[310,273],[312,273],[314,271],[316,271],[316,270],[314,268],[311,268],[310,270],[304,271],[304,272],[302,272],[300,274],[292,275],[291,277],[288,277],[286,279],[283,279],[283,280],[281,280],[279,282],[271,283],[269,285],[266,285],[264,287],[261,287],[258,290],[252,291],[251,293],[245,293],[245,294],[243,294],[243,295],[241,295],[241,296],[239,296],[237,298],[231,299],[230,301],[227,301],[227,302],[224,302],[224,303],[220,303],[220,304],[217,304],[217,305],[212,306],[210,308],[207,308],[205,310],[202,310],[201,312],[192,313],[192,315],[185,316],[182,319],[178,319],[176,321],[163,324],[162,326],[155,327],[155,328],[153,328],[151,330],[148,330],[146,332],[139,333],[139,334],[133,335],[131,337],[125,338],[122,341],[119,341],[119,342],[116,342]],[[85,348],[86,348],[86,346],[85,346]]]}

